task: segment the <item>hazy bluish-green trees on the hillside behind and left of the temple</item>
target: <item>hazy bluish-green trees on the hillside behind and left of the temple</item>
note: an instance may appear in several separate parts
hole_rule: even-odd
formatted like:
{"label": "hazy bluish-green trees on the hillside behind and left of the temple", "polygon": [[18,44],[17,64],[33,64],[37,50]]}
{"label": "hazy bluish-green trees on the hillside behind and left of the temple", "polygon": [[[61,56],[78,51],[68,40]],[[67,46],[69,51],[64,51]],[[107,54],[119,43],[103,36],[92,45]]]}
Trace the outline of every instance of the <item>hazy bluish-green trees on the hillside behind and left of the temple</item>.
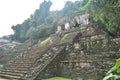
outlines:
{"label": "hazy bluish-green trees on the hillside behind and left of the temple", "polygon": [[83,13],[79,9],[82,6],[81,1],[75,1],[74,3],[66,1],[65,7],[61,11],[50,11],[51,5],[50,0],[45,0],[30,18],[22,24],[12,26],[14,31],[14,34],[11,35],[12,40],[25,42],[29,39],[48,37],[50,34],[55,33],[59,19]]}

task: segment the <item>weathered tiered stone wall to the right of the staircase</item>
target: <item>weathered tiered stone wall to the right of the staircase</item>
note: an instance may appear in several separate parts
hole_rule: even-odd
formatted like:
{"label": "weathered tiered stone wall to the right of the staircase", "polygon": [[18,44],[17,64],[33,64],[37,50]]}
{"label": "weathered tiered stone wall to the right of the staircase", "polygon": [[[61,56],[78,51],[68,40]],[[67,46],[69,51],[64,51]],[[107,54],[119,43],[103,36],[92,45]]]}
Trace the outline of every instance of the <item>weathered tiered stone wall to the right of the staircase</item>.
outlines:
{"label": "weathered tiered stone wall to the right of the staircase", "polygon": [[77,31],[72,42],[66,44],[65,51],[46,68],[42,77],[52,74],[44,78],[62,76],[73,80],[102,80],[120,57],[120,38],[112,39],[92,27],[81,27]]}

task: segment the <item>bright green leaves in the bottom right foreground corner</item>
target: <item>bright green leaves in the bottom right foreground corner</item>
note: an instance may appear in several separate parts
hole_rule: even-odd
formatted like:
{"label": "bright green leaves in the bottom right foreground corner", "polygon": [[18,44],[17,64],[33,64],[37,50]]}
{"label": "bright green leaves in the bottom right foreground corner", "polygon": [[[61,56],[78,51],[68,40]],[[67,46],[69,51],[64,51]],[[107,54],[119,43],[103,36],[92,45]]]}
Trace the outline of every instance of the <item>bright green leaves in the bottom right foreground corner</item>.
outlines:
{"label": "bright green leaves in the bottom right foreground corner", "polygon": [[103,80],[117,80],[120,79],[120,59],[116,60],[116,64],[106,74]]}

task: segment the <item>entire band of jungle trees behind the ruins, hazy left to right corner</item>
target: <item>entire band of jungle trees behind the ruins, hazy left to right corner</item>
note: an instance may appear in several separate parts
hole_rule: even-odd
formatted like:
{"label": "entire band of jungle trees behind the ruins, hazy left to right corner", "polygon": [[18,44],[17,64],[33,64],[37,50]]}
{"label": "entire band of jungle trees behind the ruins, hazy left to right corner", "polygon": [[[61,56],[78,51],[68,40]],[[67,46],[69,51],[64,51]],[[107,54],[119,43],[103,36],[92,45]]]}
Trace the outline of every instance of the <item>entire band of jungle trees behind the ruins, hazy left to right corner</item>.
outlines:
{"label": "entire band of jungle trees behind the ruins, hazy left to right corner", "polygon": [[30,18],[22,24],[13,25],[12,40],[25,42],[48,37],[55,33],[57,22],[63,17],[89,13],[95,27],[111,36],[120,36],[120,0],[67,1],[60,11],[50,11],[52,2],[44,0]]}

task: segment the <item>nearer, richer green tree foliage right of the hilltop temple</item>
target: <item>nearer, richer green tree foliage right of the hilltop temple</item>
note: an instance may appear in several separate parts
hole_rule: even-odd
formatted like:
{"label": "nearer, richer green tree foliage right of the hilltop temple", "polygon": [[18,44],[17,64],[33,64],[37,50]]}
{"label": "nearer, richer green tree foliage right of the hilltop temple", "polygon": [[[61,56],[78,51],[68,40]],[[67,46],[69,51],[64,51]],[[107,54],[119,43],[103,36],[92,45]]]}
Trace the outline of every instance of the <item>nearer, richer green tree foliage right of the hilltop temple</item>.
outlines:
{"label": "nearer, richer green tree foliage right of the hilltop temple", "polygon": [[98,27],[113,36],[120,35],[120,0],[83,0],[80,10],[91,14]]}

